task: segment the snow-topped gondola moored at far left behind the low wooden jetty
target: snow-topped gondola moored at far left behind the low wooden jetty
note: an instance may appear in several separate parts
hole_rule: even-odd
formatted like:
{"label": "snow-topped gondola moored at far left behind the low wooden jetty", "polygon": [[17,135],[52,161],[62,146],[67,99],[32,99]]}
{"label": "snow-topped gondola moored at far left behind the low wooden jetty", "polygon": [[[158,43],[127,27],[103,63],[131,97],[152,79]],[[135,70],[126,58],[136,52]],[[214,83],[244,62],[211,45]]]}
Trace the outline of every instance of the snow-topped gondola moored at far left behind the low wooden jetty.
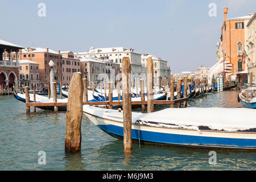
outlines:
{"label": "snow-topped gondola moored at far left behind the low wooden jetty", "polygon": [[[14,90],[13,95],[17,100],[26,103],[26,94],[24,94],[24,92],[17,93],[16,90]],[[53,102],[53,98],[48,98],[46,96],[42,96],[39,94],[35,94],[35,96],[36,96],[36,102],[40,102],[40,103]],[[32,93],[30,93],[30,102],[34,102],[34,94],[32,94]],[[64,98],[64,99],[57,98],[57,102],[68,102],[68,99],[67,98]],[[59,111],[67,110],[67,106],[57,106],[57,107],[58,107]],[[38,106],[38,108],[44,109],[44,110],[54,110],[54,106]]]}

